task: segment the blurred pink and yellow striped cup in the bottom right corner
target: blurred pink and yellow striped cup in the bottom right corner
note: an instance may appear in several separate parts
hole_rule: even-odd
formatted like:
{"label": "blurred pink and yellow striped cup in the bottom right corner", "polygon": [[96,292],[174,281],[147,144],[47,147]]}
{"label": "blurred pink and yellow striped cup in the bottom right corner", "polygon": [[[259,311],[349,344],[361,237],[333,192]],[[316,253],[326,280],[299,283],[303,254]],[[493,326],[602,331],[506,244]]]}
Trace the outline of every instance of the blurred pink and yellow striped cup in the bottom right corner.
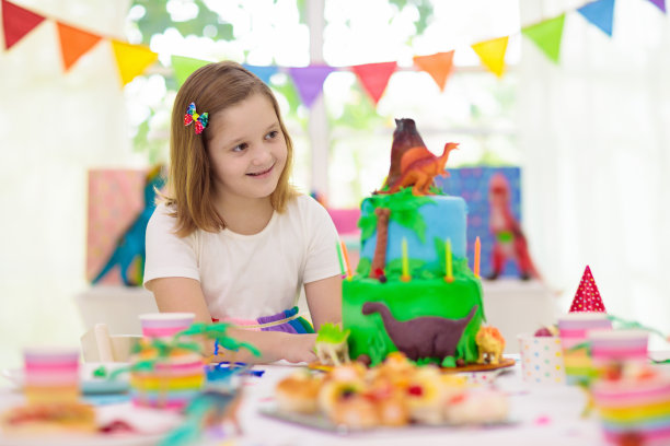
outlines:
{"label": "blurred pink and yellow striped cup in the bottom right corner", "polygon": [[609,444],[670,445],[670,377],[603,379],[592,392]]}

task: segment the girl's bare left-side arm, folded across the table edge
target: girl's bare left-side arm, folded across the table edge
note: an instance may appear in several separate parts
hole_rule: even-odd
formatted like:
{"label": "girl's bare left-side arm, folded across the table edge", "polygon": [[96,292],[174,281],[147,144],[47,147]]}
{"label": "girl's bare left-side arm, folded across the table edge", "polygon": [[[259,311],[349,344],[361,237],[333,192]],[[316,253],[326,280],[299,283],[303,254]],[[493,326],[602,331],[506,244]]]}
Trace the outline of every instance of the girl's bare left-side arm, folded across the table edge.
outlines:
{"label": "girl's bare left-side arm, folded across the table edge", "polygon": [[[161,313],[188,312],[195,314],[196,322],[211,324],[211,314],[203,294],[200,283],[187,278],[162,278],[147,283],[153,292]],[[310,305],[311,310],[311,305]],[[316,356],[312,352],[316,334],[290,334],[278,331],[251,331],[231,328],[229,333],[238,341],[247,342],[261,351],[261,357],[254,356],[245,349],[239,352],[224,351],[211,357],[212,362],[241,361],[249,363],[268,363],[279,360],[289,362],[312,362]],[[205,355],[212,356],[213,341],[205,343]]]}

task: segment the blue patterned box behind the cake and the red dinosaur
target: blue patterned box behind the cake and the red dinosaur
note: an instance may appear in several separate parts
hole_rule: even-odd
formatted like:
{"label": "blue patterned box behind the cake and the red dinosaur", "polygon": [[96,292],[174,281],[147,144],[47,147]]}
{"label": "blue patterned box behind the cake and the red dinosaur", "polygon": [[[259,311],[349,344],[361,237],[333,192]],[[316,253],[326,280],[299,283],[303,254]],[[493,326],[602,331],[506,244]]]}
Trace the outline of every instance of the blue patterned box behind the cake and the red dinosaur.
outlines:
{"label": "blue patterned box behind the cake and the red dinosaur", "polygon": [[[474,258],[475,239],[482,240],[482,275],[490,278],[494,271],[494,248],[496,235],[492,232],[492,185],[504,178],[508,188],[506,213],[521,225],[521,169],[519,167],[462,167],[449,168],[449,176],[436,177],[435,181],[446,193],[463,197],[467,203],[467,258]],[[492,184],[493,180],[493,184]],[[523,275],[519,262],[504,258],[498,277]],[[536,277],[532,267],[527,271],[529,277]]]}

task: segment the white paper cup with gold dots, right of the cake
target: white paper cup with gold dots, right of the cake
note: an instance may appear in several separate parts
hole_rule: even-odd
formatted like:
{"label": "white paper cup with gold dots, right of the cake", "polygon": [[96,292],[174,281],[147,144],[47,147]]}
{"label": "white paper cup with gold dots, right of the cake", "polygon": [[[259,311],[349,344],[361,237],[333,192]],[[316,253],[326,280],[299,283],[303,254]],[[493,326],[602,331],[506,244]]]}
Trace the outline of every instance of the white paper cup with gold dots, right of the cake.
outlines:
{"label": "white paper cup with gold dots, right of the cake", "polygon": [[519,334],[521,377],[524,383],[565,384],[563,347],[558,337]]}

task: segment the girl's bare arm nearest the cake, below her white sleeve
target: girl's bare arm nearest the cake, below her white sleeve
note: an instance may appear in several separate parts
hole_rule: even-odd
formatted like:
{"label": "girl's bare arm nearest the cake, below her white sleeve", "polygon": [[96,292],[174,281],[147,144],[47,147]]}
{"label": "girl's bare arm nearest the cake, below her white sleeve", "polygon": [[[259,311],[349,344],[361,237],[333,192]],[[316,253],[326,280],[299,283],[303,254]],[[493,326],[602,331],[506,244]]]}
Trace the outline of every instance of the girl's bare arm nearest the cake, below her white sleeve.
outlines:
{"label": "girl's bare arm nearest the cake, below her white sleeve", "polygon": [[304,284],[304,295],[314,330],[325,322],[342,322],[342,279],[339,275]]}

